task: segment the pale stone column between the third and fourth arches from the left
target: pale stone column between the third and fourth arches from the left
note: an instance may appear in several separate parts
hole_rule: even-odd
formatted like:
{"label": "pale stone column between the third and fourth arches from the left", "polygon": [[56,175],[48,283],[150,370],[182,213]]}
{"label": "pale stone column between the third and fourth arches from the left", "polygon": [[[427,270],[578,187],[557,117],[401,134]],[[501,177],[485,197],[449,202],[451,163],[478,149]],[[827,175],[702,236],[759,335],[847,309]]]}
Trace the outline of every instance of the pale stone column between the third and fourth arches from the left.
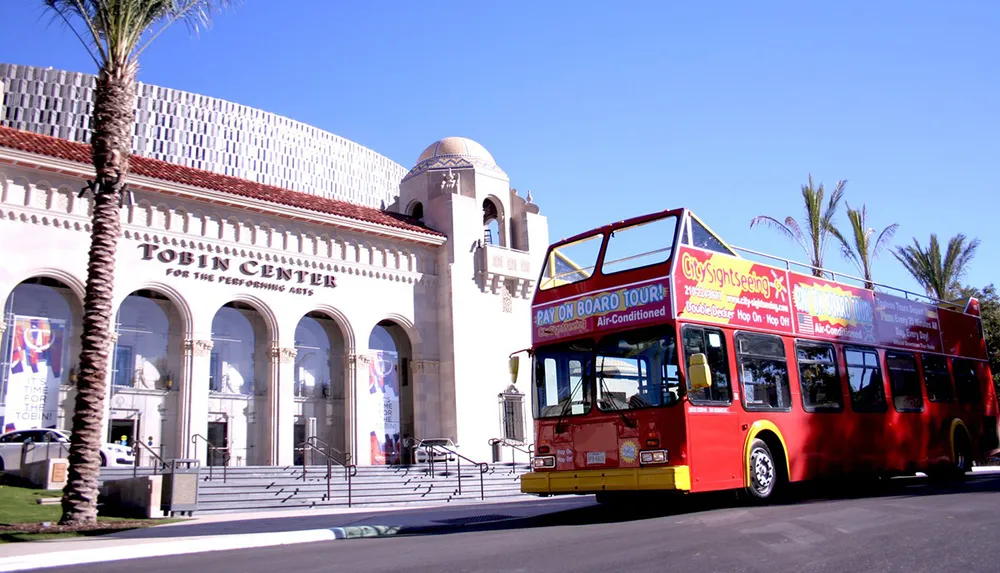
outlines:
{"label": "pale stone column between the third and fourth arches from the left", "polygon": [[267,463],[290,466],[295,461],[295,348],[271,346],[267,387]]}

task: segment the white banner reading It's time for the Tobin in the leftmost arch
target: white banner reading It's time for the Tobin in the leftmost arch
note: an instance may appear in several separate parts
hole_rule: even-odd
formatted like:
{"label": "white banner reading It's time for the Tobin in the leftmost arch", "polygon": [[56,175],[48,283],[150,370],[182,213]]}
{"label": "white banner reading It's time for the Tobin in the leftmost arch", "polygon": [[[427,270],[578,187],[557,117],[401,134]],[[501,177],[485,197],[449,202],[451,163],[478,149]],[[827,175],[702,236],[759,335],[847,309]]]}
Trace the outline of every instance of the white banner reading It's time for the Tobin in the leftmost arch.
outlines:
{"label": "white banner reading It's time for the Tobin in the leftmost arch", "polygon": [[55,427],[65,339],[65,321],[14,317],[4,430]]}

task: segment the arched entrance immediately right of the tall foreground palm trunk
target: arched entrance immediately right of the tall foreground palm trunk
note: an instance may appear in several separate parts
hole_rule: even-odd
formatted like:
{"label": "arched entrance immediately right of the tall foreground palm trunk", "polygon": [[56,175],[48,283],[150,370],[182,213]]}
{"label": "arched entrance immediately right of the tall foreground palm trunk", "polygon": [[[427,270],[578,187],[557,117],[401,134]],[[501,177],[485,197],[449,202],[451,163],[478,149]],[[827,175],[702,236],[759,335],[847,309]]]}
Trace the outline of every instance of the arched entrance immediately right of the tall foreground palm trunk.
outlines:
{"label": "arched entrance immediately right of the tall foreground palm trunk", "polygon": [[142,440],[161,458],[180,455],[177,395],[184,321],[177,306],[154,290],[122,301],[111,361],[109,441]]}

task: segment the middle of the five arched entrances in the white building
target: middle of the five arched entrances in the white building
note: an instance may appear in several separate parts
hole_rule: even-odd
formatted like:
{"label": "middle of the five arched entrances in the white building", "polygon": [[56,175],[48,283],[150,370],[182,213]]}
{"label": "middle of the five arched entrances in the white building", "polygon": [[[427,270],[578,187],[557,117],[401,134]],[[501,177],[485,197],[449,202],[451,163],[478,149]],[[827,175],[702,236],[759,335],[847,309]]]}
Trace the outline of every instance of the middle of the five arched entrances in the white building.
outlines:
{"label": "middle of the five arched entrances in the white building", "polygon": [[[268,328],[254,307],[230,302],[212,319],[206,437],[233,465],[267,463]],[[221,465],[221,454],[208,463]]]}

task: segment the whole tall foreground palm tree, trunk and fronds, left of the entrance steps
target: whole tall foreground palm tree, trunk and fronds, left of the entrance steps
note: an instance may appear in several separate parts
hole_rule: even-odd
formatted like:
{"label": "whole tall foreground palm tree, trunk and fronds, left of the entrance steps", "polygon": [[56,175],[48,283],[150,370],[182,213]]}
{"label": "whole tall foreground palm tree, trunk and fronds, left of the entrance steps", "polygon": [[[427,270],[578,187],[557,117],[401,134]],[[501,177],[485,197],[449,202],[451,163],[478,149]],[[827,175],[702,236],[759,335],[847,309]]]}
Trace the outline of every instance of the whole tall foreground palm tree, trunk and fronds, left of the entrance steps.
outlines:
{"label": "whole tall foreground palm tree, trunk and fronds, left of the entrance steps", "polygon": [[[83,192],[93,196],[93,225],[84,295],[83,336],[77,375],[69,472],[63,490],[64,525],[97,521],[101,421],[111,333],[115,251],[121,235],[122,197],[132,150],[139,56],[178,20],[197,31],[211,23],[224,0],[43,0],[87,48],[97,64],[93,135],[95,176]],[[74,25],[74,23],[76,25]],[[82,193],[82,192],[81,192]]]}

